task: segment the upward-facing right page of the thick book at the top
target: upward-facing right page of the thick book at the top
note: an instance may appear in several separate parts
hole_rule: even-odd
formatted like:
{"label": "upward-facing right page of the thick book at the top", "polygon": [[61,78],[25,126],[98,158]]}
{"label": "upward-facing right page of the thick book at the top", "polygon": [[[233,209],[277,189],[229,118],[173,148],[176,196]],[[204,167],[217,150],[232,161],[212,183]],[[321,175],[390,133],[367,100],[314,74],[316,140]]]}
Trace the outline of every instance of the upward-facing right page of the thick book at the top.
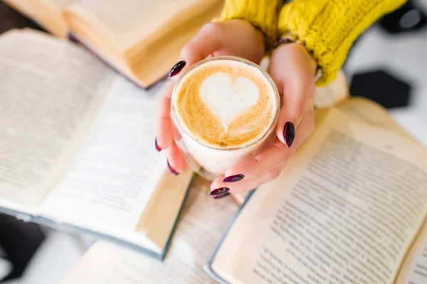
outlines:
{"label": "upward-facing right page of the thick book at the top", "polygon": [[[90,21],[98,33],[115,40],[113,43],[121,49],[132,46],[130,40],[152,40],[162,28],[176,28],[218,1],[80,0],[68,11]],[[173,26],[167,26],[168,23]]]}

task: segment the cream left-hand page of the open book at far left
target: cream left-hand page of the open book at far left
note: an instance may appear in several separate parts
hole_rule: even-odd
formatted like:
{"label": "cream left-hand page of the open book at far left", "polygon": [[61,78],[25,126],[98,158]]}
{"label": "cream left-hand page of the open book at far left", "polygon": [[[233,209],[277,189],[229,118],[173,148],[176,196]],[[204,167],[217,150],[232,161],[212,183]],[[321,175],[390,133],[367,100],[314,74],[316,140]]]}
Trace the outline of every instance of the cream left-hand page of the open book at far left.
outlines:
{"label": "cream left-hand page of the open book at far left", "polygon": [[1,35],[0,207],[43,200],[85,136],[112,75],[90,53],[46,33]]}

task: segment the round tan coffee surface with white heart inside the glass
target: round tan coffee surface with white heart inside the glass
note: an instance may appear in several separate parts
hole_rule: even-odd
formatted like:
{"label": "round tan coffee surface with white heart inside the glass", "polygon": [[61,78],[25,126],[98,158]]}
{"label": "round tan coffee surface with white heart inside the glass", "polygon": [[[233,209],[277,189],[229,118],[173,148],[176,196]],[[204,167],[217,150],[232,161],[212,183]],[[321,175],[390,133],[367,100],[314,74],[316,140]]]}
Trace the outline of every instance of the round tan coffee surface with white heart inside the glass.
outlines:
{"label": "round tan coffee surface with white heart inside the glass", "polygon": [[275,117],[275,92],[260,70],[235,60],[205,62],[176,86],[174,108],[194,140],[215,148],[256,141]]}

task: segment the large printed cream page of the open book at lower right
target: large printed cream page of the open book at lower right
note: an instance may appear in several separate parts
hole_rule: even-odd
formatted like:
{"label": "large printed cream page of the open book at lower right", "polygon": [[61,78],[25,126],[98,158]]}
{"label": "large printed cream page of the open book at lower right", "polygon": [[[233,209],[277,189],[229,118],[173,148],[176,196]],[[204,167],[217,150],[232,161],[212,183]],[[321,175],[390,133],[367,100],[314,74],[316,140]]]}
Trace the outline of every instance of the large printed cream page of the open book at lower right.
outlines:
{"label": "large printed cream page of the open book at lower right", "polygon": [[425,148],[332,109],[254,193],[212,268],[231,283],[393,283],[426,188]]}

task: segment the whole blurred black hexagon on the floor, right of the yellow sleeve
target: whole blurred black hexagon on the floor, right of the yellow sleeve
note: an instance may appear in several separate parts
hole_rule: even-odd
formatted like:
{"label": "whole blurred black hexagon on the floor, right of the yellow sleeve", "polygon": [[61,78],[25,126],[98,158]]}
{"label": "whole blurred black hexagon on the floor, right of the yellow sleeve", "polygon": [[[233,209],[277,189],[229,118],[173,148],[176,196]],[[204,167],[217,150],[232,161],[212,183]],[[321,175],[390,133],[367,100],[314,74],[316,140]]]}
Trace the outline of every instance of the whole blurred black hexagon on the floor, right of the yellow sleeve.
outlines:
{"label": "whole blurred black hexagon on the floor, right of the yellow sleeve", "polygon": [[385,70],[357,73],[350,85],[352,96],[371,99],[387,109],[408,106],[410,93],[409,82]]}

